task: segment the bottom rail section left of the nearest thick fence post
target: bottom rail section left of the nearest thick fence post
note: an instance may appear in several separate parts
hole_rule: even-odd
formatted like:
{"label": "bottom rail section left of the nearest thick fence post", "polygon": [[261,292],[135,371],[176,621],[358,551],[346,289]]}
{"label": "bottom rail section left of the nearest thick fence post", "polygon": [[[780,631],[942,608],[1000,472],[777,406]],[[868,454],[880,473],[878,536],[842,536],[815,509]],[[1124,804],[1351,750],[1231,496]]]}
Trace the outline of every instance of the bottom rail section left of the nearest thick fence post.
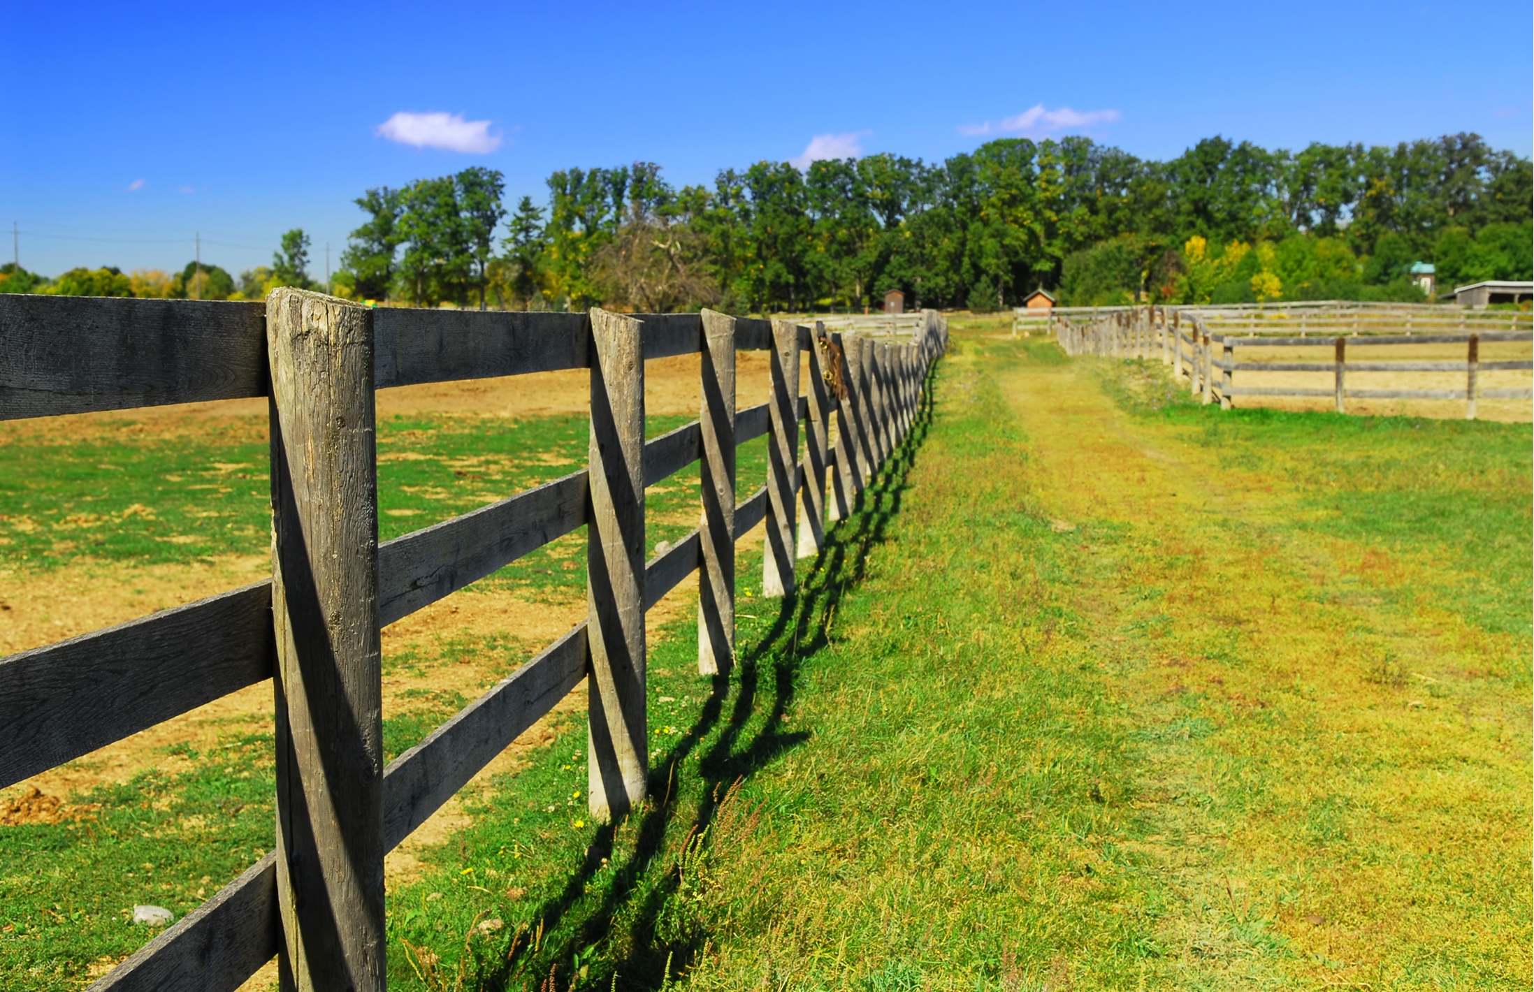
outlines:
{"label": "bottom rail section left of the nearest thick fence post", "polygon": [[278,954],[276,851],[252,865],[89,992],[235,992]]}

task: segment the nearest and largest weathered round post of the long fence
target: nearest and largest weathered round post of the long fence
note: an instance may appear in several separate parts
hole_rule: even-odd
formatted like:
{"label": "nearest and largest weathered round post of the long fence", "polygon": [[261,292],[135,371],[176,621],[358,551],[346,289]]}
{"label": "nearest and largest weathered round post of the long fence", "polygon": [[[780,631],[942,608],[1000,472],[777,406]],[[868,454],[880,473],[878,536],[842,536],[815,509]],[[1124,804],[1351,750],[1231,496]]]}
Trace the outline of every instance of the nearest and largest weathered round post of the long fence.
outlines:
{"label": "nearest and largest weathered round post of the long fence", "polygon": [[282,980],[382,992],[373,314],[273,290],[267,350]]}

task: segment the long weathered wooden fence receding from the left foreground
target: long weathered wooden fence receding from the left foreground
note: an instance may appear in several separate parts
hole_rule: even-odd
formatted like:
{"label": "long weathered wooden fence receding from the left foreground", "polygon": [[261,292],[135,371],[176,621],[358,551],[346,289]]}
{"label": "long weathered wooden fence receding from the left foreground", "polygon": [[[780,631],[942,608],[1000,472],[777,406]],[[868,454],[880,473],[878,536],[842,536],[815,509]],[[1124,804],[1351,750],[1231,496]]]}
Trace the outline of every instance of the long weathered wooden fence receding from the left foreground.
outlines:
{"label": "long weathered wooden fence receding from the left foreground", "polygon": [[[646,610],[700,570],[698,668],[727,670],[735,541],[765,523],[762,589],[793,589],[917,414],[946,322],[908,325],[0,296],[0,419],[270,399],[268,581],[0,659],[0,787],[275,681],[276,849],[92,989],[225,992],[273,957],[284,987],[382,989],[384,854],[588,676],[591,811],[643,800]],[[735,406],[738,350],[772,353],[761,406]],[[644,360],[693,353],[700,419],[646,440]],[[379,544],[374,389],[574,368],[586,469]],[[736,503],[736,446],[764,434]],[[701,524],[646,561],[644,488],[693,462]],[[385,768],[379,629],[583,524],[588,619]]]}

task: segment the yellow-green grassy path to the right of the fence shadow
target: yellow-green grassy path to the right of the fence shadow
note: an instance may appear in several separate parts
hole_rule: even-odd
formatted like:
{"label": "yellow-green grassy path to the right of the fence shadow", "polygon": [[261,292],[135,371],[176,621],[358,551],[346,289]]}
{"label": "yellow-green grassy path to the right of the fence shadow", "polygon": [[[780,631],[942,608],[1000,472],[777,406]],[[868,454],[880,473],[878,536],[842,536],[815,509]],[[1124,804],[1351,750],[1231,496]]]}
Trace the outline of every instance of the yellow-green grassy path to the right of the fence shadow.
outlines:
{"label": "yellow-green grassy path to the right of the fence shadow", "polygon": [[957,337],[692,984],[1526,987],[1528,428],[1163,388]]}

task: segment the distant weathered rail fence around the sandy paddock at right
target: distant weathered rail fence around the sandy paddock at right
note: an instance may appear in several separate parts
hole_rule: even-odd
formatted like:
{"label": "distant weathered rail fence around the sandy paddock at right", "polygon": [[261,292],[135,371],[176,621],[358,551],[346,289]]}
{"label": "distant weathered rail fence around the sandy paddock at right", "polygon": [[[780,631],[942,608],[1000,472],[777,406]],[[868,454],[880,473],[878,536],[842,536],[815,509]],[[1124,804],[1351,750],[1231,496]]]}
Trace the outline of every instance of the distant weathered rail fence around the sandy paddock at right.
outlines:
{"label": "distant weathered rail fence around the sandy paddock at right", "polygon": [[[1212,319],[1206,308],[1135,307],[1072,324],[1058,317],[1058,337],[1069,354],[1120,359],[1160,357],[1172,366],[1175,379],[1204,403],[1220,402],[1230,409],[1239,396],[1332,397],[1336,411],[1345,412],[1347,399],[1428,399],[1463,400],[1465,417],[1476,417],[1477,399],[1534,399],[1531,388],[1482,388],[1480,373],[1534,371],[1534,360],[1480,360],[1480,345],[1493,342],[1531,342],[1529,313],[1486,311],[1460,307],[1381,307],[1376,310],[1310,310],[1295,313],[1253,313],[1227,310]],[[1405,324],[1407,320],[1411,324]],[[1218,328],[1218,330],[1216,330]],[[1298,334],[1295,331],[1299,331]],[[1347,330],[1348,333],[1341,333]],[[1287,331],[1287,333],[1285,333]],[[1310,337],[1315,333],[1316,337]],[[1348,360],[1358,348],[1388,345],[1463,345],[1463,362]],[[1330,348],[1330,362],[1287,362],[1236,359],[1236,348]],[[1220,357],[1215,357],[1215,351]],[[1367,353],[1365,353],[1367,354]],[[1459,373],[1462,386],[1440,389],[1367,389],[1347,385],[1347,373]],[[1216,377],[1218,373],[1218,377]],[[1296,386],[1236,385],[1236,373],[1330,373],[1328,389]]]}

